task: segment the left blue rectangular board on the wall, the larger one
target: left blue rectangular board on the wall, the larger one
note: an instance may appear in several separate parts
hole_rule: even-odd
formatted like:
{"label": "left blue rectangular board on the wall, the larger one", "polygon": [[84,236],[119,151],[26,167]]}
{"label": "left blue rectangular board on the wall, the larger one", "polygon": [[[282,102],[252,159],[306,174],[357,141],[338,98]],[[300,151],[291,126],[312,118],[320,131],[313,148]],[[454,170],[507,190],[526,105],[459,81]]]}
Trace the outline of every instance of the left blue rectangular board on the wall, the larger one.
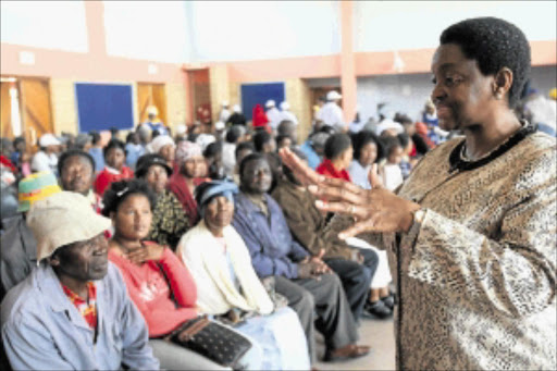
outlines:
{"label": "left blue rectangular board on the wall, the larger one", "polygon": [[79,133],[134,127],[131,85],[75,84]]}

